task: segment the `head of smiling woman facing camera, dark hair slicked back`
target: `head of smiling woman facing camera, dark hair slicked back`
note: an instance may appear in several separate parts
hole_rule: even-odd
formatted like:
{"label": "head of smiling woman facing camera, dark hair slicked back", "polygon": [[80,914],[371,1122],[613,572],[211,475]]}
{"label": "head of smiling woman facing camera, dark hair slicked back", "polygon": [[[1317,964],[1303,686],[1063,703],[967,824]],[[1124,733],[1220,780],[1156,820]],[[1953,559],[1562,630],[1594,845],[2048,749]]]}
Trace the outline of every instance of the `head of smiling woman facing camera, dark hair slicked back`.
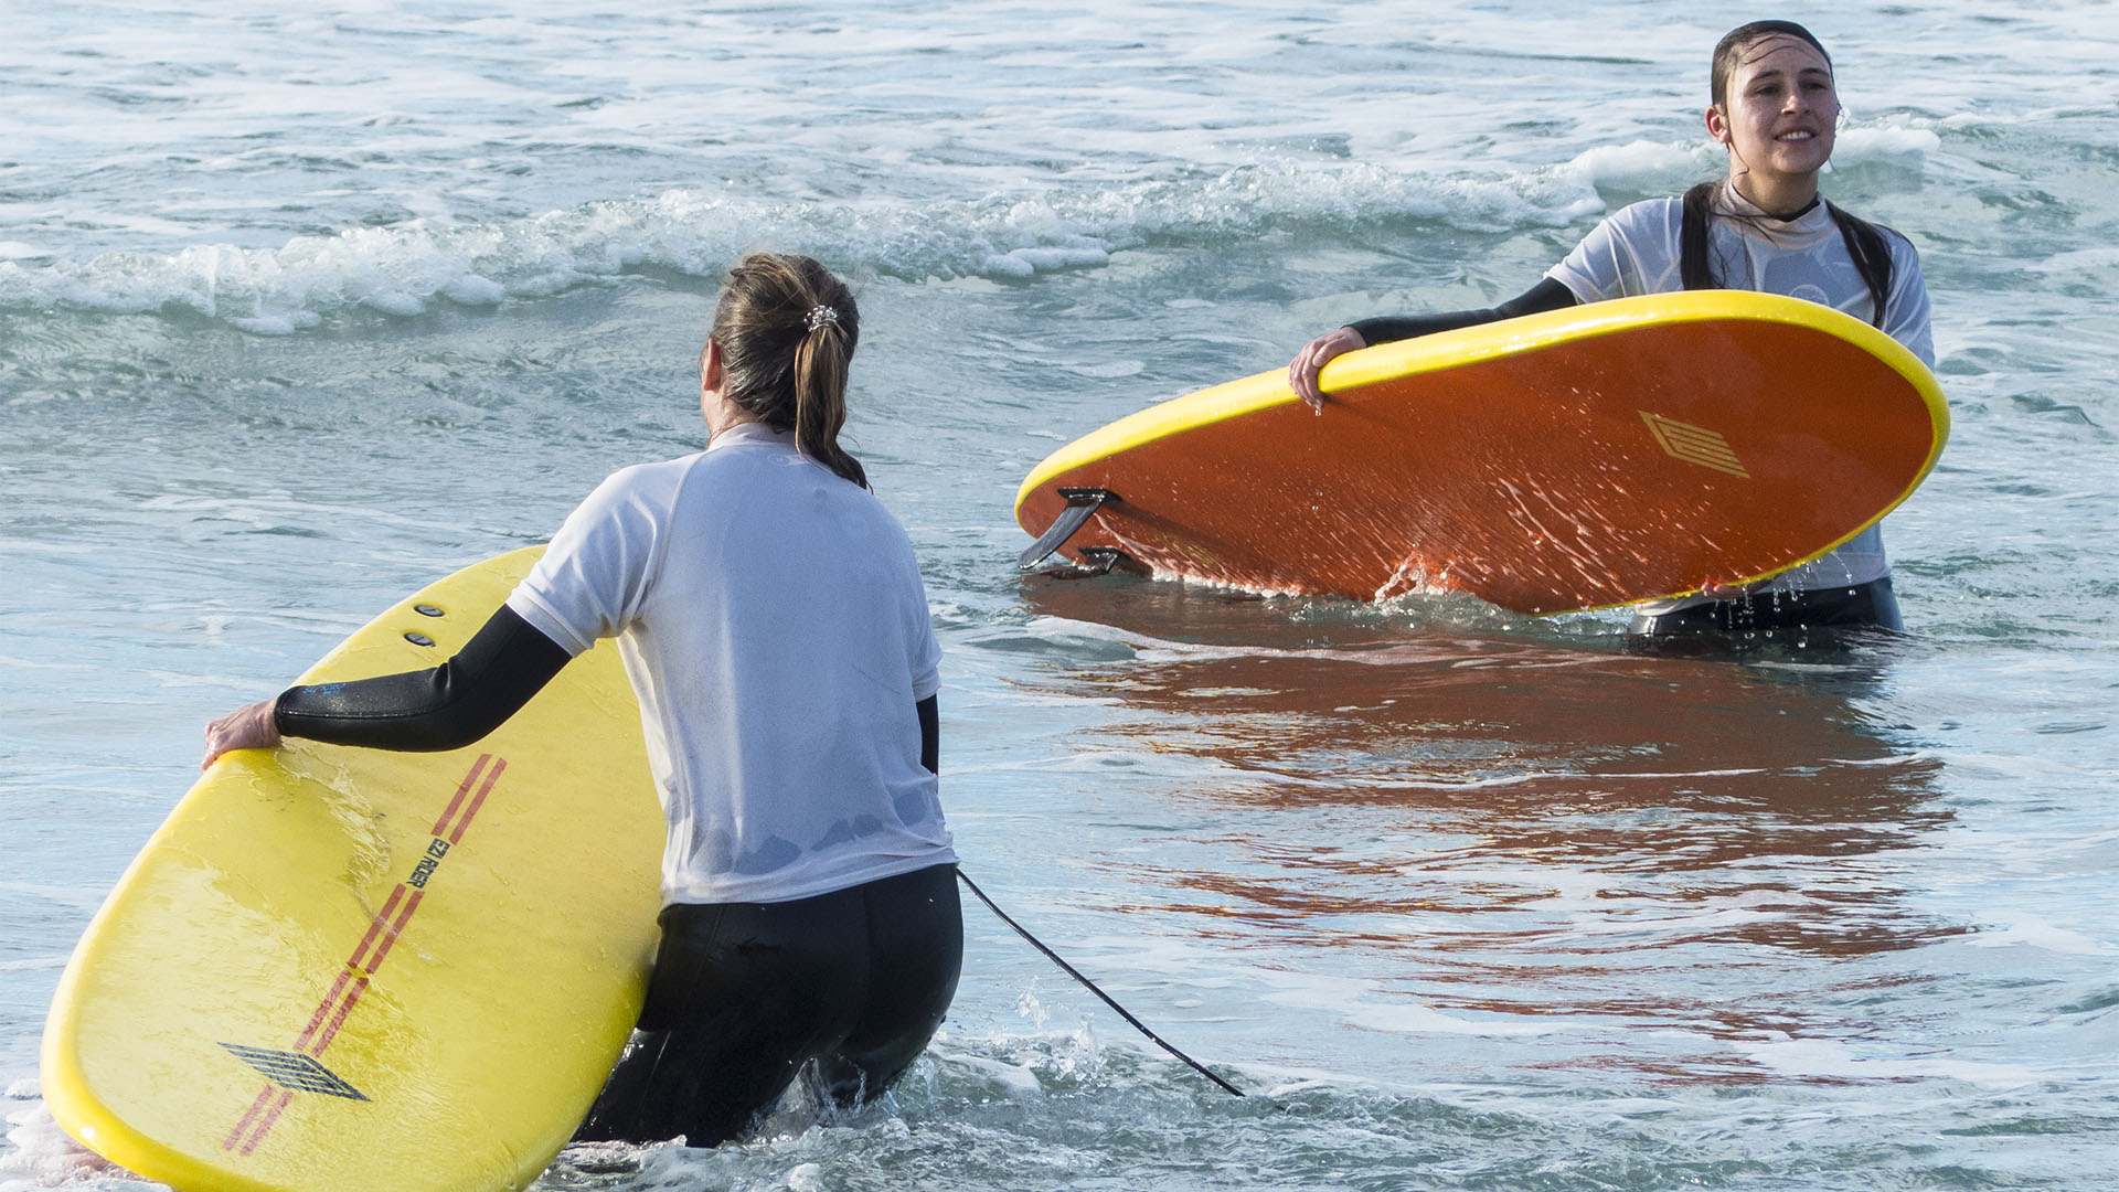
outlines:
{"label": "head of smiling woman facing camera, dark hair slicked back", "polygon": [[1833,155],[1837,121],[1831,64],[1786,34],[1746,47],[1729,72],[1727,104],[1708,108],[1708,134],[1729,146],[1731,174],[1759,174],[1759,182],[1814,178]]}

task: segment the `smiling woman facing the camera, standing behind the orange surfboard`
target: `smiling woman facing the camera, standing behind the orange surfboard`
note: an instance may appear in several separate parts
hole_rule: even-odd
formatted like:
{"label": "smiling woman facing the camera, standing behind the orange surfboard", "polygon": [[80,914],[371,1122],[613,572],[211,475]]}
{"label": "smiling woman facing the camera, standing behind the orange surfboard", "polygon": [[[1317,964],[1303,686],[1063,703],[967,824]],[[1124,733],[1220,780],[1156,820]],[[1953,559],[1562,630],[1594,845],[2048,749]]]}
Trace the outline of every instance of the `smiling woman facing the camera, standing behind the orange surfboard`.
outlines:
{"label": "smiling woman facing the camera, standing behind the orange surfboard", "polygon": [[[1831,305],[1884,329],[1933,367],[1928,291],[1913,244],[1818,195],[1839,119],[1833,62],[1818,38],[1793,21],[1731,30],[1714,47],[1710,98],[1706,127],[1729,155],[1723,180],[1613,214],[1545,280],[1492,310],[1365,318],[1320,335],[1288,365],[1288,384],[1322,409],[1318,369],[1343,352],[1678,288],[1744,288]],[[1824,626],[1901,628],[1880,528],[1761,585],[1708,588],[1642,604],[1634,617],[1634,632],[1644,634]]]}

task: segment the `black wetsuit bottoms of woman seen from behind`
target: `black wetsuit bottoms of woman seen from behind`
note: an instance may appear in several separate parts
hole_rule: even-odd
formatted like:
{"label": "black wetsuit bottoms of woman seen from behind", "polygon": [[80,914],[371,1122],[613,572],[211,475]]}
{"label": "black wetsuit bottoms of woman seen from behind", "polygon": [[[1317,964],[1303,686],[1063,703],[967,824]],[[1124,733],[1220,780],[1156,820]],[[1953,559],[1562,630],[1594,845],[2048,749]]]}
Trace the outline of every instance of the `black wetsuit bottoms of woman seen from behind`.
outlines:
{"label": "black wetsuit bottoms of woman seen from behind", "polygon": [[674,904],[640,1027],[576,1139],[710,1147],[771,1109],[803,1063],[839,1105],[926,1050],[964,961],[956,865],[829,895]]}

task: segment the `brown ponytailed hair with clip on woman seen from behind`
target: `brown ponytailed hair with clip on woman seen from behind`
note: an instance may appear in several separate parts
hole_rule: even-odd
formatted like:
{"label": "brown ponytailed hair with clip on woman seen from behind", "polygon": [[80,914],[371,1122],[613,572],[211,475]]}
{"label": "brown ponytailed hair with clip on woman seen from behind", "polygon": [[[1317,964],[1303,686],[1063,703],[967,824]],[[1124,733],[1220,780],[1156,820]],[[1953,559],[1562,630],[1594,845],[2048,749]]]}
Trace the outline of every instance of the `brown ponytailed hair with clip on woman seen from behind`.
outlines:
{"label": "brown ponytailed hair with clip on woman seen from behind", "polygon": [[845,375],[860,310],[845,282],[807,257],[752,252],[729,269],[708,337],[720,346],[723,395],[795,450],[867,488],[860,460],[839,445]]}

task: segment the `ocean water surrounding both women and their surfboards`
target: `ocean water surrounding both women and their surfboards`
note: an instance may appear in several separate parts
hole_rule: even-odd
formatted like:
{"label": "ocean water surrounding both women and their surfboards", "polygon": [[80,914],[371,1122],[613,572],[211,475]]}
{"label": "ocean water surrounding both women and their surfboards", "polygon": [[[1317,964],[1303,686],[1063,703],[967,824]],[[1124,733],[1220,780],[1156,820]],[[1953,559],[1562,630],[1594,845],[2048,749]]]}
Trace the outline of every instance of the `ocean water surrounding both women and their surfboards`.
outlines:
{"label": "ocean water surrounding both women and their surfboards", "polygon": [[[0,0],[0,1190],[74,937],[197,759],[407,590],[695,450],[746,248],[856,282],[966,904],[882,1105],[545,1188],[2108,1188],[2119,8],[1793,4],[1827,193],[1920,246],[1956,431],[1909,636],[1023,581],[1017,481],[1710,176],[1697,4]],[[377,1192],[388,1192],[377,1188]]]}

